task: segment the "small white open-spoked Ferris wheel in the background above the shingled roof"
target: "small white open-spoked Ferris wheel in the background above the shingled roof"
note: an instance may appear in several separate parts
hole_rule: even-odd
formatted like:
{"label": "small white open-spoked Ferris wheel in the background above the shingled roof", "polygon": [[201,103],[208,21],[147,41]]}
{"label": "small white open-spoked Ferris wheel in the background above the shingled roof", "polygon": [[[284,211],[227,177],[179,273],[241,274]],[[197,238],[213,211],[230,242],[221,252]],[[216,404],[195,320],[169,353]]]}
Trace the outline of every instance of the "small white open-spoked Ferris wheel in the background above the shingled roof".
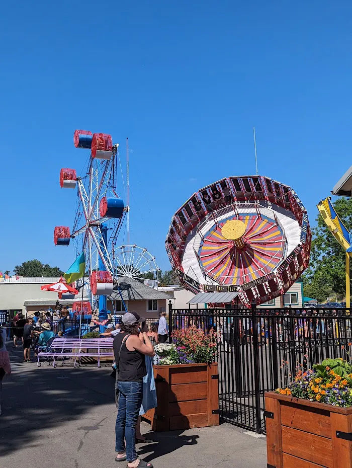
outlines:
{"label": "small white open-spoked Ferris wheel in the background above the shingled roof", "polygon": [[127,276],[137,281],[145,279],[159,280],[159,268],[146,248],[120,246],[115,251],[116,272],[118,276]]}

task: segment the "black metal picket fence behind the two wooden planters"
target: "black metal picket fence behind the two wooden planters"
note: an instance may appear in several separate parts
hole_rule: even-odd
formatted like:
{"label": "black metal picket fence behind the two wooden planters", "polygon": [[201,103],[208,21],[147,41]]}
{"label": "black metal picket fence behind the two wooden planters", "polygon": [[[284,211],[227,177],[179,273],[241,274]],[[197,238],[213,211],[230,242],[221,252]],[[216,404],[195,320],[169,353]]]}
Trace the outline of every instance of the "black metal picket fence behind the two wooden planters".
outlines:
{"label": "black metal picket fence behind the two wooden planters", "polygon": [[352,315],[345,308],[169,309],[170,333],[194,325],[219,332],[220,416],[265,432],[264,393],[325,358],[350,359]]}

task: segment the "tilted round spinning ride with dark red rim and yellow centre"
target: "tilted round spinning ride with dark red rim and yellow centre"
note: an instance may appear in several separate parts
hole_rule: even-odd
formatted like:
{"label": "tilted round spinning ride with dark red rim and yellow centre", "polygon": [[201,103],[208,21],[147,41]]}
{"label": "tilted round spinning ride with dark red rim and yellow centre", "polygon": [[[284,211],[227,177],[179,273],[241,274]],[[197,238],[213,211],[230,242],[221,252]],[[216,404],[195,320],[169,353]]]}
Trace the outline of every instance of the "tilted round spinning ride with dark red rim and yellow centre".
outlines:
{"label": "tilted round spinning ride with dark red rim and yellow centre", "polygon": [[307,211],[289,186],[267,177],[211,184],[174,214],[165,246],[189,290],[236,292],[248,307],[284,294],[308,267]]}

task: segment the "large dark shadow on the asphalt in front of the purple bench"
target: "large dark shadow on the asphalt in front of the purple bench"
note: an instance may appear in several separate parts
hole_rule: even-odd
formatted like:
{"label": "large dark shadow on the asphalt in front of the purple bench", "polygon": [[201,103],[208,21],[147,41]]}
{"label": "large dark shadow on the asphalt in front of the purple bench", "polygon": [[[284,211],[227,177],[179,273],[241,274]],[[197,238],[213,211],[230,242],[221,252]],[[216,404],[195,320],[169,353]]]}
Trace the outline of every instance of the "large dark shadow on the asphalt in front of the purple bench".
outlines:
{"label": "large dark shadow on the asphalt in front of the purple bench", "polygon": [[[37,367],[36,362],[22,362],[22,346],[14,348],[7,343],[7,348],[13,372],[3,380],[0,456],[37,444],[39,431],[52,429],[57,433],[63,422],[80,419],[92,405],[114,402],[110,366],[74,369],[72,363],[61,367],[58,362],[56,369],[47,363]],[[45,439],[42,442],[45,444]]]}

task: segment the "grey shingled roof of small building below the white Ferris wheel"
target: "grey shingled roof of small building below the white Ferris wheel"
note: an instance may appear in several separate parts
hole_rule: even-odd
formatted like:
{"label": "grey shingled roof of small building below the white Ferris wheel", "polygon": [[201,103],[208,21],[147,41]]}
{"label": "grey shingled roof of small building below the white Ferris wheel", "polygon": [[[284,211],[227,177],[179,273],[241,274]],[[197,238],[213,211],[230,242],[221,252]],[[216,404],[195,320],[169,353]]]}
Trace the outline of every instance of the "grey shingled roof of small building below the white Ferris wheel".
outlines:
{"label": "grey shingled roof of small building below the white Ferris wheel", "polygon": [[[119,278],[119,287],[123,300],[146,300],[146,299],[172,299],[173,296],[157,289],[146,286],[139,281],[123,276]],[[121,300],[116,286],[110,294],[111,299]]]}

